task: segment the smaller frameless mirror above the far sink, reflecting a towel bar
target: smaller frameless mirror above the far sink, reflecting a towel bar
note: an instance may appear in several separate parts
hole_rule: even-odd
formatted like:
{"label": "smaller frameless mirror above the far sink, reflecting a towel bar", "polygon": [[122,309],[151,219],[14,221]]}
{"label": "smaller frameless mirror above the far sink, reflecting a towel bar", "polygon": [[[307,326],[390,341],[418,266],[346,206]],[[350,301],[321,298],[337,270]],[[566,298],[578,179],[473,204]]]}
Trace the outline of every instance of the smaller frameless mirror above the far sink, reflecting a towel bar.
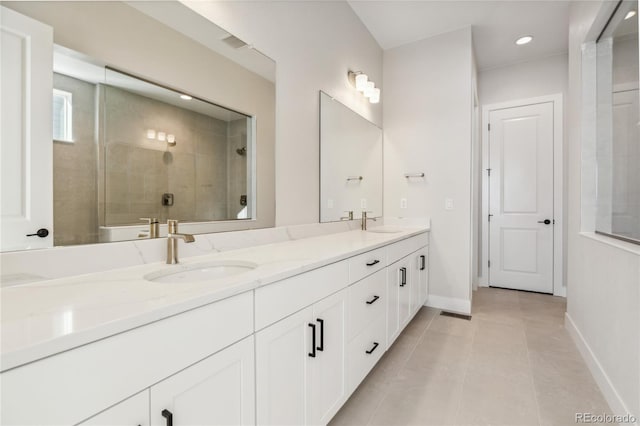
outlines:
{"label": "smaller frameless mirror above the far sink, reflecting a towel bar", "polygon": [[382,129],[320,92],[320,222],[382,216]]}

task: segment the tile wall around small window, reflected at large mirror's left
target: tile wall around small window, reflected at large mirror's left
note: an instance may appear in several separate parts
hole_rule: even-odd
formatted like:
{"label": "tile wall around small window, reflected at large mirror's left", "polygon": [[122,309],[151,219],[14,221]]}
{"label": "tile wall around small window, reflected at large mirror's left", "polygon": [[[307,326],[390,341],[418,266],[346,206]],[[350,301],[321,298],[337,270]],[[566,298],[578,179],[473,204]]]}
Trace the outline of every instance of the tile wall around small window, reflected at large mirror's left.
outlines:
{"label": "tile wall around small window, reflected at large mirror's left", "polygon": [[53,75],[53,87],[73,95],[73,143],[53,142],[53,243],[98,241],[96,86]]}

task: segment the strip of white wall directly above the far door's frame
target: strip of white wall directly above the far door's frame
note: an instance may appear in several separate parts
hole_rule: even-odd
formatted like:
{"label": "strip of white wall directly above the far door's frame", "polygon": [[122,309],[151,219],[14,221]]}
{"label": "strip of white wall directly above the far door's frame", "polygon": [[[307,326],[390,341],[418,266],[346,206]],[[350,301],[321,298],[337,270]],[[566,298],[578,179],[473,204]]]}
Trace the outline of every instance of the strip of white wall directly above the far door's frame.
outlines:
{"label": "strip of white wall directly above the far door's frame", "polygon": [[534,61],[481,70],[478,96],[482,105],[568,93],[568,57],[554,55]]}

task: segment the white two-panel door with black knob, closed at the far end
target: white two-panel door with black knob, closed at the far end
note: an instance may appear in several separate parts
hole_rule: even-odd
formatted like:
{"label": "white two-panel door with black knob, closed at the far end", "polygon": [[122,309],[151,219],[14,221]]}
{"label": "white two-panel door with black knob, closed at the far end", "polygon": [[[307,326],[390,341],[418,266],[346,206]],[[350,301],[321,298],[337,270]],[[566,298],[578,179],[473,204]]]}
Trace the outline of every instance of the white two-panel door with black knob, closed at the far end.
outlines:
{"label": "white two-panel door with black knob, closed at the far end", "polygon": [[489,126],[489,285],[553,293],[553,103]]}

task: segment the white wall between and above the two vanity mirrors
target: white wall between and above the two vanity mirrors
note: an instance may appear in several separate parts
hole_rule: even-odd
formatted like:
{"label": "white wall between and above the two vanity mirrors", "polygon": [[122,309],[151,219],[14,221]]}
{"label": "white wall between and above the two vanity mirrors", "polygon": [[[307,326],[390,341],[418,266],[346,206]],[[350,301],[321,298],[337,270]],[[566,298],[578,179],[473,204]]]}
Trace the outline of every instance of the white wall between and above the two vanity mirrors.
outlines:
{"label": "white wall between and above the two vanity mirrors", "polygon": [[[382,49],[346,2],[184,3],[276,61],[276,225],[318,222],[318,91],[382,127]],[[380,104],[349,84],[349,69],[381,87]]]}

